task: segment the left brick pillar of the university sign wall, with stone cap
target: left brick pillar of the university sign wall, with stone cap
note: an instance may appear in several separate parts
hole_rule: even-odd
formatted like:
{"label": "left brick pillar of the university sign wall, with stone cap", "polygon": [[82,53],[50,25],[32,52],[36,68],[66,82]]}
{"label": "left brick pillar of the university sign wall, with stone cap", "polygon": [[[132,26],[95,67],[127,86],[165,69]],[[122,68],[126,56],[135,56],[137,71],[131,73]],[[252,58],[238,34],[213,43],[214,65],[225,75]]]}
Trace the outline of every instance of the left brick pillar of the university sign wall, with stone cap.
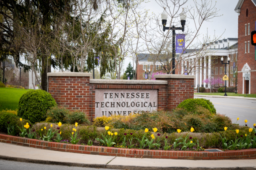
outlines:
{"label": "left brick pillar of the university sign wall, with stone cap", "polygon": [[79,109],[92,117],[92,90],[90,73],[49,72],[48,92],[59,105],[68,109]]}

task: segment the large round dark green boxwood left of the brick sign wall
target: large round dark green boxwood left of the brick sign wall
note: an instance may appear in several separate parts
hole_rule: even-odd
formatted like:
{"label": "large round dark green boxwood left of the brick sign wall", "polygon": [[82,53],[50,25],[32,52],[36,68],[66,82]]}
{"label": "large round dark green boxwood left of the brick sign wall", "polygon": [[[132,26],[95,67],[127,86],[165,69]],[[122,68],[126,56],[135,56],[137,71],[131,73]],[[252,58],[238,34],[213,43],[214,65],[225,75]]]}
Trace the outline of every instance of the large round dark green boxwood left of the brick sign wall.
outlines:
{"label": "large round dark green boxwood left of the brick sign wall", "polygon": [[30,90],[19,99],[18,116],[32,123],[46,119],[46,112],[56,105],[55,100],[44,90]]}

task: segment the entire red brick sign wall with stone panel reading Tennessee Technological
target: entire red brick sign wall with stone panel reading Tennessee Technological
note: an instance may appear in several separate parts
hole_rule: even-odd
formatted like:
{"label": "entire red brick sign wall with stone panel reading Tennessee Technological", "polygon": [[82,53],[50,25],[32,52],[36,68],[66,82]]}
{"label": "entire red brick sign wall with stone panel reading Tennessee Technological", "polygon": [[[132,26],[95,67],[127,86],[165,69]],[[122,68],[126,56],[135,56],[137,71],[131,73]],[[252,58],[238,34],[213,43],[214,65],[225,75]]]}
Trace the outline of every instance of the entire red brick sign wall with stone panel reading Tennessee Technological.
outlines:
{"label": "entire red brick sign wall with stone panel reading Tennessee Technological", "polygon": [[139,112],[141,105],[141,110],[171,110],[181,101],[194,97],[194,76],[155,75],[156,80],[98,80],[90,79],[90,75],[80,72],[47,73],[48,90],[56,102],[68,109],[82,110],[91,121],[102,114],[110,116]]}

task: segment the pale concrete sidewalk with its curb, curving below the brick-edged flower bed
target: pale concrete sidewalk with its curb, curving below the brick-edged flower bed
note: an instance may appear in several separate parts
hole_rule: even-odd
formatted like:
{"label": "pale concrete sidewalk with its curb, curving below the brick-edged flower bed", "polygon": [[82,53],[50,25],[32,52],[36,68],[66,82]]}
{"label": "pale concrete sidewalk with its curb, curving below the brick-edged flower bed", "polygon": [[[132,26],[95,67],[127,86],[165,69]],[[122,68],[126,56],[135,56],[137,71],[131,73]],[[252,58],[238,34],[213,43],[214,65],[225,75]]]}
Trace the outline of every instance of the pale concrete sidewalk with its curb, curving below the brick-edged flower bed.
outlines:
{"label": "pale concrete sidewalk with its curb, curving below the brick-edged flower bed", "polygon": [[96,167],[127,170],[256,170],[256,159],[243,160],[181,160],[181,159],[141,159],[115,156],[86,155],[29,148],[0,143],[0,159],[54,164],[66,166]]}

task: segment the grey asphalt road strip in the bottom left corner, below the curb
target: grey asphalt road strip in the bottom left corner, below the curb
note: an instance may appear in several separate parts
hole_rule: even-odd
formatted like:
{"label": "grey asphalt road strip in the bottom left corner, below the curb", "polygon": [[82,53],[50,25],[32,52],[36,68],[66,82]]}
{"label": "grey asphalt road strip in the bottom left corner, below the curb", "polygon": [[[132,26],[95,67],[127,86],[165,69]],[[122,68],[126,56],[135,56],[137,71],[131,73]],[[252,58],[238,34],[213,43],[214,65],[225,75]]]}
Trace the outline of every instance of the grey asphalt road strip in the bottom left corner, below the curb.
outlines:
{"label": "grey asphalt road strip in the bottom left corner, below the curb", "polygon": [[45,165],[45,164],[23,163],[23,162],[8,161],[8,160],[0,159],[0,170],[111,170],[111,169]]}

